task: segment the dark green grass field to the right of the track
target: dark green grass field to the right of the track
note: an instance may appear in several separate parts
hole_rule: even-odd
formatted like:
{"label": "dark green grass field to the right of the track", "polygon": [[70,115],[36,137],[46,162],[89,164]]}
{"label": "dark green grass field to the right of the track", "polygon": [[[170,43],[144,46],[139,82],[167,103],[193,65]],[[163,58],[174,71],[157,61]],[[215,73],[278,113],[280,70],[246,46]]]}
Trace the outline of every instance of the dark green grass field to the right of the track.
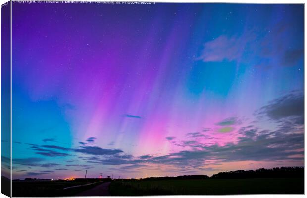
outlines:
{"label": "dark green grass field to the right of the track", "polygon": [[303,194],[302,179],[113,181],[111,195]]}

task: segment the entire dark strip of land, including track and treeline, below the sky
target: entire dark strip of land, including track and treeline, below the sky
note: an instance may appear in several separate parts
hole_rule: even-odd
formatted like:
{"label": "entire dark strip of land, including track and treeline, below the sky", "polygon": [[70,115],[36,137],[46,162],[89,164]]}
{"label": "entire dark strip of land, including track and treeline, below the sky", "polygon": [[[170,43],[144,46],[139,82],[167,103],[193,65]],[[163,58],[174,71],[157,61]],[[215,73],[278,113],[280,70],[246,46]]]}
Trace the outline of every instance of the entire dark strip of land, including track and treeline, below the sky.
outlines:
{"label": "entire dark strip of land, including track and treeline, below the sky", "polygon": [[[74,188],[65,189],[72,186]],[[12,194],[13,197],[304,194],[304,168],[236,170],[219,172],[211,177],[180,175],[142,179],[76,178],[53,181],[29,178],[13,181]]]}

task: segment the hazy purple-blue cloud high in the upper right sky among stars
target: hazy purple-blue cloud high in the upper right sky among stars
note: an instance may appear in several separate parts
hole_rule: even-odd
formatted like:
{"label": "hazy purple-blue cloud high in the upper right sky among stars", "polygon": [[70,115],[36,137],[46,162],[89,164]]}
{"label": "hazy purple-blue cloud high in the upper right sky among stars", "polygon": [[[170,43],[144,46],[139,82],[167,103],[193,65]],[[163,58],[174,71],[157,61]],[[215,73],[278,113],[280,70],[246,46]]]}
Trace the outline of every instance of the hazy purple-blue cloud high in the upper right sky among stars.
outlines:
{"label": "hazy purple-blue cloud high in the upper right sky among stars", "polygon": [[257,30],[245,31],[241,35],[220,35],[204,44],[199,60],[235,61],[265,68],[295,66],[303,60],[303,44],[292,45],[289,48],[290,43],[280,42],[285,41],[284,35],[293,36],[291,27],[292,24],[289,21],[282,21],[275,24],[269,31]]}

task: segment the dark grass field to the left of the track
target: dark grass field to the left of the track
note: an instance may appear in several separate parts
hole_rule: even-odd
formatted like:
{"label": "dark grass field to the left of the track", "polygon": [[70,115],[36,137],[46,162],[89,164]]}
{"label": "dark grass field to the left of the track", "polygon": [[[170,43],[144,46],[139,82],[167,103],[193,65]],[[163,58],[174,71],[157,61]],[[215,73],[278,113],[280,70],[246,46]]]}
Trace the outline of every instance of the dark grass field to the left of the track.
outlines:
{"label": "dark grass field to the left of the track", "polygon": [[84,185],[97,181],[13,181],[12,194],[13,197],[54,197],[54,196],[74,196],[79,192],[91,189],[103,181],[82,187],[70,188],[64,190],[65,187]]}

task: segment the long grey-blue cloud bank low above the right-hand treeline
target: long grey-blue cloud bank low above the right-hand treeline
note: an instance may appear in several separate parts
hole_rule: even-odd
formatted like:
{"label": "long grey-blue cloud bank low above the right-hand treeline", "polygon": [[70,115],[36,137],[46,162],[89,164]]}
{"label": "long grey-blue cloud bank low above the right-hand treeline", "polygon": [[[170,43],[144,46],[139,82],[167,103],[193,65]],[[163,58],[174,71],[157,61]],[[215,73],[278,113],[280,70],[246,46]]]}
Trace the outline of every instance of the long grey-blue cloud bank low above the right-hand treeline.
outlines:
{"label": "long grey-blue cloud bank low above the right-hand treeline", "polygon": [[[223,162],[245,160],[303,160],[303,133],[289,134],[289,131],[280,129],[267,134],[258,134],[257,130],[240,138],[238,143],[228,143],[225,146],[203,146],[198,150],[185,150],[170,153],[169,155],[153,157],[147,160],[152,163],[173,164],[179,167],[201,167],[205,160],[214,159]],[[282,132],[282,135],[281,135]],[[287,140],[285,142],[284,140]],[[198,148],[199,145],[198,145]],[[301,157],[292,157],[301,155]],[[191,165],[192,164],[192,165]]]}

